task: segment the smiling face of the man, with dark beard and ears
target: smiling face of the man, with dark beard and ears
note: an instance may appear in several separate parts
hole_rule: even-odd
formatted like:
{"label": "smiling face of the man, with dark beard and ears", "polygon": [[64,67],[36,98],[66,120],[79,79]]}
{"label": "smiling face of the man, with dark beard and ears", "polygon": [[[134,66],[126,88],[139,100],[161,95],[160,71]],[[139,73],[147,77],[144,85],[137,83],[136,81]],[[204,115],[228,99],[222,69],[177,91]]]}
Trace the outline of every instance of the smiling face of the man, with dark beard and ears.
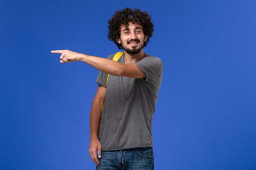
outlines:
{"label": "smiling face of the man, with dark beard and ears", "polygon": [[128,22],[128,27],[122,25],[120,27],[120,38],[117,39],[118,43],[121,43],[122,48],[129,54],[137,54],[143,49],[144,42],[147,40],[147,36],[143,33],[142,26],[135,22]]}

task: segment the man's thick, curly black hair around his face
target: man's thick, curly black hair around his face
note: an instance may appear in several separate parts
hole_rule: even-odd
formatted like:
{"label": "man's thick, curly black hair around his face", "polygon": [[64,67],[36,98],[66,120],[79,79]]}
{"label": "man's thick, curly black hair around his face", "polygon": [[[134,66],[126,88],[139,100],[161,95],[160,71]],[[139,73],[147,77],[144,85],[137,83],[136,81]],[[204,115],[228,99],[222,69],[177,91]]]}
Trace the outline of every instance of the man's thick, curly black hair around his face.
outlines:
{"label": "man's thick, curly black hair around his face", "polygon": [[121,44],[117,42],[117,38],[120,38],[120,26],[128,26],[128,22],[132,22],[132,24],[138,22],[141,24],[144,35],[148,37],[146,42],[144,42],[144,46],[146,46],[153,35],[154,25],[151,22],[151,15],[140,9],[132,10],[126,7],[126,9],[115,11],[115,14],[108,21],[108,39],[115,42],[118,49],[122,49]]}

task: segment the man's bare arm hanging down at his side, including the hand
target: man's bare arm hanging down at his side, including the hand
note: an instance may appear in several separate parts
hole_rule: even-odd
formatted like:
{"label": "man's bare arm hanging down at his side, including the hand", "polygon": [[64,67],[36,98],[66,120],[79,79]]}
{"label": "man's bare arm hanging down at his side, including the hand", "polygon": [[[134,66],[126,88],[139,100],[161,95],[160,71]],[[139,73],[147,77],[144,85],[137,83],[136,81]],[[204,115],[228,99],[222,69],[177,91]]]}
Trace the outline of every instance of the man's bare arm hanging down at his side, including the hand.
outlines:
{"label": "man's bare arm hanging down at his side, including the hand", "polygon": [[98,157],[101,158],[101,143],[99,142],[99,125],[101,122],[101,114],[103,110],[103,104],[106,95],[106,88],[99,85],[96,95],[92,101],[92,108],[90,112],[90,146],[89,153],[92,161],[98,166],[99,160],[97,159],[96,151],[98,151]]}

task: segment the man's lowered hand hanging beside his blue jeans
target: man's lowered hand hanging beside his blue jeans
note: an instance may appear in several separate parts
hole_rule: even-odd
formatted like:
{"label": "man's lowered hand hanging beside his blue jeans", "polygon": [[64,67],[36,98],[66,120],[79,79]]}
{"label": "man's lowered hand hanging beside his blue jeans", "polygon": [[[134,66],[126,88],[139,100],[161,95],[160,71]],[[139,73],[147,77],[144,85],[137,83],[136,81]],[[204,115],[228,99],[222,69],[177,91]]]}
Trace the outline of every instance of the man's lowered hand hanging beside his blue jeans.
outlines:
{"label": "man's lowered hand hanging beside his blue jeans", "polygon": [[99,139],[91,139],[89,146],[89,153],[92,161],[99,166],[99,160],[97,159],[96,151],[98,150],[98,157],[101,158],[101,143]]}

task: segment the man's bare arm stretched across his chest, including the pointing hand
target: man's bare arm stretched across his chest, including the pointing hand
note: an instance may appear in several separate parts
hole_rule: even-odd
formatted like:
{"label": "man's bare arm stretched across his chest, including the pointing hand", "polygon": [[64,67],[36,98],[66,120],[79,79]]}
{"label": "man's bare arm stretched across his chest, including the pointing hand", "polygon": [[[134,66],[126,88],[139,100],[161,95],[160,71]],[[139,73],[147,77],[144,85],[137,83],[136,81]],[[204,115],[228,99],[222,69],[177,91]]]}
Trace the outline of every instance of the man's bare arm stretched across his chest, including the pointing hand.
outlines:
{"label": "man's bare arm stretched across his chest, including the pointing hand", "polygon": [[82,61],[90,64],[103,73],[132,78],[144,78],[146,75],[135,64],[122,64],[102,57],[95,57],[76,53],[70,50],[56,50],[52,53],[61,53],[61,63]]}

